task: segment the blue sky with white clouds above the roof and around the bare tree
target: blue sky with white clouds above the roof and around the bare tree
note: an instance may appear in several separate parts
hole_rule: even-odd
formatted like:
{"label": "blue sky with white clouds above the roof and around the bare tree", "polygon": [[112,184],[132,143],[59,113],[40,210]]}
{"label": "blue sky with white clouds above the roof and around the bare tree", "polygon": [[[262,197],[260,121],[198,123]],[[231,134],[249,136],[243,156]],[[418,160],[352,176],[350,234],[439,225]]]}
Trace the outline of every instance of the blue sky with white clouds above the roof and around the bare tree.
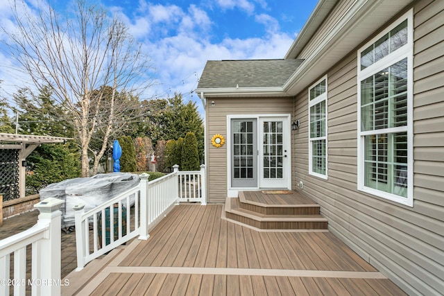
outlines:
{"label": "blue sky with white clouds above the roof and around the bare tree", "polygon": [[[27,2],[43,0],[27,0]],[[65,1],[51,0],[60,11]],[[9,1],[0,1],[0,23],[10,18]],[[155,67],[156,84],[146,98],[180,92],[197,101],[198,78],[207,60],[284,58],[317,0],[101,0],[130,28]],[[0,35],[1,37],[1,35]],[[8,56],[0,53],[3,96],[12,80]],[[1,94],[1,93],[0,93]]]}

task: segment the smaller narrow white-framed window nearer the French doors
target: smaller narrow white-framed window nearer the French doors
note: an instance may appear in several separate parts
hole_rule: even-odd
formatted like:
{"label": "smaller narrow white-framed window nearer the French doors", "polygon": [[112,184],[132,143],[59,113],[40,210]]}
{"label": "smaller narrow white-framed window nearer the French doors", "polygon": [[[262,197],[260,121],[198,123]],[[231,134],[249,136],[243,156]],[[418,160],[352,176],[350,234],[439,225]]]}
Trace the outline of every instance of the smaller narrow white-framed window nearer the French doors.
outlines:
{"label": "smaller narrow white-framed window nearer the French doors", "polygon": [[309,88],[309,174],[327,179],[327,77]]}

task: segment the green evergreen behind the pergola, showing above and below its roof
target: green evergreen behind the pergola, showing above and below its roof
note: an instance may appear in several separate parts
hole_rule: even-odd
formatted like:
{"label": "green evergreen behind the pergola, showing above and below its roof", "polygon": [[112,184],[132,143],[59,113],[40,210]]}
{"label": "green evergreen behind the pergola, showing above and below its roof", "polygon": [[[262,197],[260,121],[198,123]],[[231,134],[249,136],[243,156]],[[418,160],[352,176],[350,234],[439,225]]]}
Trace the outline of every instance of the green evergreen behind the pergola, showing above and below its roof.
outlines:
{"label": "green evergreen behind the pergola, showing above and below its roof", "polygon": [[[64,114],[65,108],[51,100],[49,87],[35,96],[28,89],[19,89],[13,96],[14,112],[19,112],[19,134],[35,134],[53,137],[74,137],[74,129],[68,120],[55,120],[56,114]],[[49,184],[80,175],[80,155],[74,140],[67,143],[42,144],[27,157],[26,194],[38,193]]]}

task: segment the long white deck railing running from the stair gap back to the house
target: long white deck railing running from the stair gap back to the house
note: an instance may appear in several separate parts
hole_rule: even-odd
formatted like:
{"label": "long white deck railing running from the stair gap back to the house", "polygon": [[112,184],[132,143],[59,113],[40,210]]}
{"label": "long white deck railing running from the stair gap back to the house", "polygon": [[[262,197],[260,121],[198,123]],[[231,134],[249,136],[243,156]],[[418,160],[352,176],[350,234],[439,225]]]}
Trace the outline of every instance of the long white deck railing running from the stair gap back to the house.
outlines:
{"label": "long white deck railing running from the stair gap back to the house", "polygon": [[[90,211],[76,209],[77,271],[97,257],[130,239],[149,238],[154,227],[178,202],[205,203],[205,166],[200,171],[173,173],[148,182],[140,175],[140,184]],[[103,227],[105,225],[105,227]]]}

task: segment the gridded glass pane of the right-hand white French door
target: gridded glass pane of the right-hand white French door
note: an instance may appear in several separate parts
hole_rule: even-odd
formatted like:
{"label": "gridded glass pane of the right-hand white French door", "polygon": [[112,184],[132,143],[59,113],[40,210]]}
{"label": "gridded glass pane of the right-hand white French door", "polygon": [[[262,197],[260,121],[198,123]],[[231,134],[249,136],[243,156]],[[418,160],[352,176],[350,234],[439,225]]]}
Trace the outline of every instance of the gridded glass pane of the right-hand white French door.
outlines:
{"label": "gridded glass pane of the right-hand white French door", "polygon": [[282,161],[284,153],[282,121],[264,121],[263,143],[264,155],[263,175],[265,179],[282,179]]}

